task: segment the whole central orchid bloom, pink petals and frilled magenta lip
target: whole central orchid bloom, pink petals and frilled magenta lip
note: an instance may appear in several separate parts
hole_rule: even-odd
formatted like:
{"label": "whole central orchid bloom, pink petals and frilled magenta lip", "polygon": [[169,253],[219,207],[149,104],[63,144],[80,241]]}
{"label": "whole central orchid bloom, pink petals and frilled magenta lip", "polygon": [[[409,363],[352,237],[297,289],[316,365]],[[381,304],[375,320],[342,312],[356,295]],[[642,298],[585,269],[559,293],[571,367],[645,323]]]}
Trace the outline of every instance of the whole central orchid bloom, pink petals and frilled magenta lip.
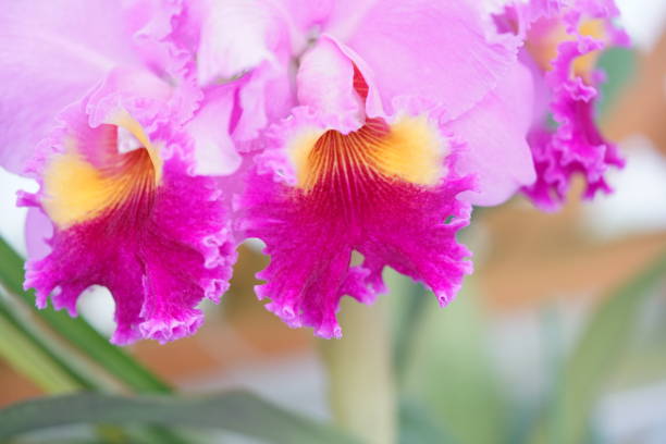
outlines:
{"label": "whole central orchid bloom, pink petals and frilled magenta lip", "polygon": [[[464,2],[208,8],[198,81],[236,85],[231,132],[259,150],[238,227],[271,256],[257,288],[267,308],[340,336],[340,298],[371,303],[385,266],[447,304],[472,268],[455,238],[471,203],[497,205],[534,180],[518,40],[486,35]],[[350,264],[354,251],[362,263]]]}

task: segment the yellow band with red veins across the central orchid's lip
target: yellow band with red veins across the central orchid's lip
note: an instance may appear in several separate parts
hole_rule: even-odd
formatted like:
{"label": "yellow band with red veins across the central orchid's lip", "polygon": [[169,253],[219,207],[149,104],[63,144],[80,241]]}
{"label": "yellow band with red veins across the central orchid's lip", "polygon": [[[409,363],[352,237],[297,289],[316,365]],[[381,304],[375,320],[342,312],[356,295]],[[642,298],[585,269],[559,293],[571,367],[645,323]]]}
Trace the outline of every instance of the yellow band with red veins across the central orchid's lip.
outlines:
{"label": "yellow band with red veins across the central orchid's lip", "polygon": [[446,173],[446,144],[424,116],[404,116],[388,125],[369,120],[361,128],[342,134],[308,131],[289,148],[297,186],[311,190],[325,176],[381,175],[415,185],[436,185]]}

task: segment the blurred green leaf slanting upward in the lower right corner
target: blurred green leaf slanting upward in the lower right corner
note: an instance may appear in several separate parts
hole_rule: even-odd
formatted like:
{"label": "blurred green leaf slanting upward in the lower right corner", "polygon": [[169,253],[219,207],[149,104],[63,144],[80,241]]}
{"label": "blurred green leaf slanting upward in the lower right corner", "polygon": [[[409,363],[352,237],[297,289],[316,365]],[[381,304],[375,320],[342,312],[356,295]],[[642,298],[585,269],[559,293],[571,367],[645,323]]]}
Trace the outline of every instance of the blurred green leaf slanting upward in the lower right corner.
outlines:
{"label": "blurred green leaf slanting upward in the lower right corner", "polygon": [[[590,414],[627,349],[650,289],[666,275],[666,256],[605,298],[565,363],[546,436],[553,443],[583,443]],[[543,436],[538,431],[535,439]]]}

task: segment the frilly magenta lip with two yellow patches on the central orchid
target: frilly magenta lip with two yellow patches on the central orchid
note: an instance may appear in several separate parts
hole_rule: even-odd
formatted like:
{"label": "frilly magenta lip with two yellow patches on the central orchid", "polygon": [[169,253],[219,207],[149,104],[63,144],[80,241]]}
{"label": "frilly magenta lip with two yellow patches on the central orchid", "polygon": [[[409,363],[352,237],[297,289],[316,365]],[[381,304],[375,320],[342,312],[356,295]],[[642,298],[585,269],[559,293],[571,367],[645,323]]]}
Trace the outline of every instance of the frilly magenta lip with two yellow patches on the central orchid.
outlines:
{"label": "frilly magenta lip with two yellow patches on the central orchid", "polygon": [[[338,337],[341,297],[371,303],[385,266],[424,282],[443,305],[454,297],[471,271],[455,239],[470,206],[456,196],[472,183],[455,173],[458,146],[435,122],[373,119],[344,135],[301,108],[272,130],[239,226],[271,256],[257,287],[269,310],[291,326]],[[362,266],[350,267],[353,251]]]}

